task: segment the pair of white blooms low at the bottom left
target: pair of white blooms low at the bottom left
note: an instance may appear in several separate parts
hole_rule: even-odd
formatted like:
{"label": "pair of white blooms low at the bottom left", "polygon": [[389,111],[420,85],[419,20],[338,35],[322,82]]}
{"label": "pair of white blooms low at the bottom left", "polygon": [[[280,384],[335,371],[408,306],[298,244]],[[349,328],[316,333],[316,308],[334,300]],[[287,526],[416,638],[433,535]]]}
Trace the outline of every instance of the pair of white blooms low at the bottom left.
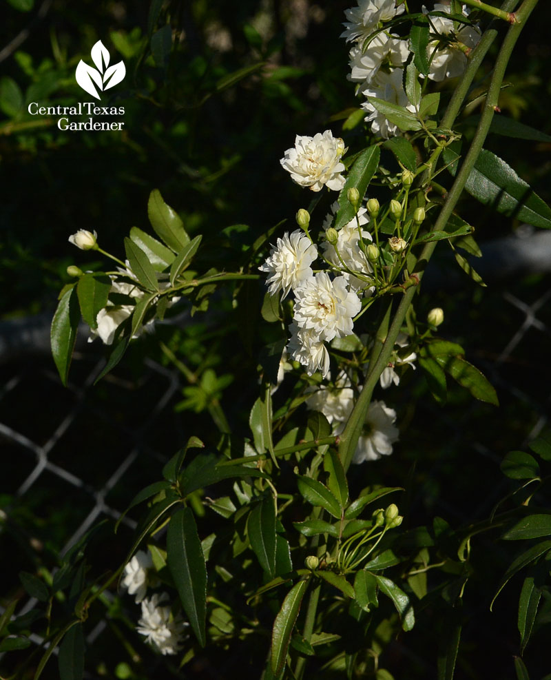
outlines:
{"label": "pair of white blooms low at the bottom left", "polygon": [[142,615],[136,630],[160,654],[176,654],[181,649],[188,624],[180,617],[174,617],[170,606],[161,606],[161,602],[169,597],[167,593],[145,597],[147,588],[155,588],[159,583],[150,553],[138,550],[125,566],[121,581],[128,594],[136,596],[136,604],[141,603]]}

